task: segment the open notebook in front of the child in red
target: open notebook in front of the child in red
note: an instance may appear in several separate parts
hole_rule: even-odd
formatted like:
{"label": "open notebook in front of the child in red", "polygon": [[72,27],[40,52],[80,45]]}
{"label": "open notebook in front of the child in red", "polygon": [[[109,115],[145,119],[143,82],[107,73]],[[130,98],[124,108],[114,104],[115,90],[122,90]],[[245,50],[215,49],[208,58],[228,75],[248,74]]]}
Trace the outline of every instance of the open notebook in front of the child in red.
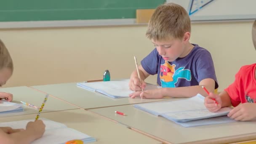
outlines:
{"label": "open notebook in front of the child in red", "polygon": [[[224,116],[227,115],[232,109],[230,107],[223,107],[218,112],[210,112],[205,108],[204,97],[200,94],[197,94],[189,99],[135,104],[134,107],[149,112],[153,115],[165,117],[168,120],[172,120],[178,124],[183,124],[183,126],[187,124],[186,127],[213,123],[215,124],[214,121],[218,121],[216,118],[215,120],[205,118]],[[229,118],[226,119],[222,117],[222,119],[225,119],[226,121],[228,120],[228,122],[233,121],[229,120]],[[197,121],[192,122],[192,120]],[[219,122],[221,122],[221,120],[219,120]]]}

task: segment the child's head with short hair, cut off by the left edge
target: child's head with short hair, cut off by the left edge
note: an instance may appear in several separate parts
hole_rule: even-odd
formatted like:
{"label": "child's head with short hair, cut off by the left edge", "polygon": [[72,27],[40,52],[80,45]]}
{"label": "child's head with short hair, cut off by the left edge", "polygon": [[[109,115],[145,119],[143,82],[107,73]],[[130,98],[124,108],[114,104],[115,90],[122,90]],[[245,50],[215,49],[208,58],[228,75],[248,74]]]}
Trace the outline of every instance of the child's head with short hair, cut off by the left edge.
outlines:
{"label": "child's head with short hair, cut off by the left edge", "polygon": [[0,86],[4,85],[13,73],[13,61],[11,55],[0,40]]}

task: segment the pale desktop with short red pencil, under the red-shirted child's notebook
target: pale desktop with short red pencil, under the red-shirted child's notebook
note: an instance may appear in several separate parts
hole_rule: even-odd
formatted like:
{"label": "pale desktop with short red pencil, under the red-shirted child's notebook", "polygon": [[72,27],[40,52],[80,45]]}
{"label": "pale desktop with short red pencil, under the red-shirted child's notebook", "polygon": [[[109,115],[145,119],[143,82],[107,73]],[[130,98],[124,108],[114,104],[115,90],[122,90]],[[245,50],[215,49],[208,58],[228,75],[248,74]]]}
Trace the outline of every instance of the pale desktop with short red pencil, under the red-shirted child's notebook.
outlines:
{"label": "pale desktop with short red pencil, under the red-shirted child's notebook", "polygon": [[[256,121],[185,128],[164,117],[157,117],[137,109],[133,105],[90,109],[90,111],[172,144],[219,144],[256,139]],[[127,116],[117,115],[115,111],[123,112]]]}

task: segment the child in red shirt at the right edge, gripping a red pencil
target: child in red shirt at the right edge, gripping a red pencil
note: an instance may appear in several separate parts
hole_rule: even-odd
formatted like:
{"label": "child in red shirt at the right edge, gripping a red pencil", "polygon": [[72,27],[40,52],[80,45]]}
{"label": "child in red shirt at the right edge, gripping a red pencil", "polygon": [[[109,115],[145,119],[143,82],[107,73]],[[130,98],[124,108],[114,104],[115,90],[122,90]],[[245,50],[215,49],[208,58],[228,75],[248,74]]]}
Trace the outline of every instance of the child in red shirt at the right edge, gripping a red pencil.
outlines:
{"label": "child in red shirt at the right edge, gripping a red pencil", "polygon": [[[256,49],[256,20],[252,27],[253,45]],[[210,93],[205,98],[205,107],[216,112],[221,107],[235,107],[228,117],[246,121],[256,118],[256,64],[245,65],[235,75],[235,82],[219,95]],[[215,99],[216,102],[213,100]]]}

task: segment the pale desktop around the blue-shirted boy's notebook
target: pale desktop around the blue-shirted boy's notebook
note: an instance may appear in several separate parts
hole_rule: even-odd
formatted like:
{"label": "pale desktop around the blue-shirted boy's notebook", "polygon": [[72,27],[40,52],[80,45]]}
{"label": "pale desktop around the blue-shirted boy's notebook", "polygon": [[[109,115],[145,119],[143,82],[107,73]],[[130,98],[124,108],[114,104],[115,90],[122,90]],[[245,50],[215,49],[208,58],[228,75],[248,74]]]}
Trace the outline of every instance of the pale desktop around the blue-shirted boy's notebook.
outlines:
{"label": "pale desktop around the blue-shirted boy's notebook", "polygon": [[78,107],[84,109],[93,109],[99,107],[110,107],[125,104],[137,104],[152,101],[164,101],[168,99],[131,99],[131,98],[120,98],[113,99],[105,96],[101,93],[96,93],[93,91],[88,91],[83,88],[78,88],[76,83],[62,83],[53,85],[38,85],[32,86],[39,91],[49,93],[64,101],[68,101],[75,104]]}

